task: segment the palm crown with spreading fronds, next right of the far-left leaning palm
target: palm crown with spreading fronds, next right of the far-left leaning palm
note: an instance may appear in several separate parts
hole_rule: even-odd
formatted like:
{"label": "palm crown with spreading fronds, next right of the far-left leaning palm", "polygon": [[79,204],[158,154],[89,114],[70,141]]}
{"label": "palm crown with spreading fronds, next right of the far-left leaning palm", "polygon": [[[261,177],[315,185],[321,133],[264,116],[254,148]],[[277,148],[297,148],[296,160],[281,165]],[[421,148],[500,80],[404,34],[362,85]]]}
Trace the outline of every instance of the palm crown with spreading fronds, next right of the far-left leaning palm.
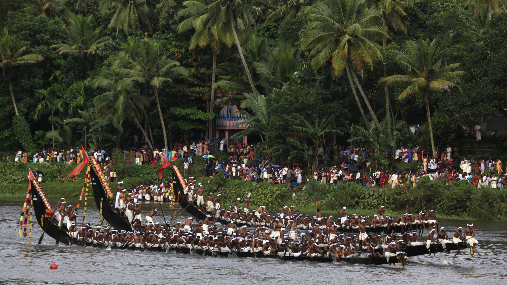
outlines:
{"label": "palm crown with spreading fronds, next right of the far-left leaning palm", "polygon": [[85,58],[86,71],[90,71],[89,57],[94,55],[104,42],[110,37],[100,37],[102,27],[93,30],[93,16],[76,15],[65,27],[68,40],[62,40],[65,44],[53,45],[50,48],[57,48],[56,52],[61,55],[83,56]]}

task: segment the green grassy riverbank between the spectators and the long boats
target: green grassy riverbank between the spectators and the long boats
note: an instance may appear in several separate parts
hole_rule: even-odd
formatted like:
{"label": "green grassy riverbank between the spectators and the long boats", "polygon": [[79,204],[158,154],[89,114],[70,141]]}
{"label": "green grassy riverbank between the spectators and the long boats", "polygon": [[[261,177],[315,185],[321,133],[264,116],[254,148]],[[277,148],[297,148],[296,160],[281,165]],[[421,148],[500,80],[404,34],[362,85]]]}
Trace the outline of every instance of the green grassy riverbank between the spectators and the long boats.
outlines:
{"label": "green grassy riverbank between the spectators and the long boats", "polygon": [[[225,154],[224,154],[225,155]],[[220,157],[220,156],[219,156]],[[183,172],[183,159],[174,161]],[[448,219],[481,219],[507,220],[507,189],[480,188],[455,182],[446,185],[443,181],[430,181],[424,177],[417,183],[417,187],[376,187],[363,188],[357,184],[338,184],[333,187],[322,185],[310,180],[306,188],[297,186],[296,195],[287,190],[286,185],[272,185],[269,183],[252,183],[250,181],[233,181],[221,175],[200,177],[204,169],[205,160],[195,158],[189,168],[187,176],[196,177],[197,182],[204,185],[206,193],[222,194],[222,204],[230,205],[240,198],[244,201],[251,193],[250,208],[265,205],[268,209],[277,211],[280,206],[296,206],[302,212],[314,213],[315,202],[325,215],[338,217],[343,206],[349,213],[373,216],[376,210],[384,205],[388,215],[400,216],[409,211],[417,213],[420,210],[434,209],[440,218]],[[83,188],[84,172],[78,176],[78,182],[60,183],[61,176],[66,176],[76,165],[61,164],[9,164],[0,163],[0,198],[14,199],[24,197],[27,189],[26,175],[28,167],[45,173],[41,187],[49,197],[79,197]],[[160,181],[158,169],[160,166],[127,166],[124,161],[117,161],[111,169],[117,171],[119,180],[124,187],[146,180]],[[168,177],[169,171],[163,176]],[[111,187],[116,187],[116,182]],[[92,191],[89,191],[92,196]]]}

